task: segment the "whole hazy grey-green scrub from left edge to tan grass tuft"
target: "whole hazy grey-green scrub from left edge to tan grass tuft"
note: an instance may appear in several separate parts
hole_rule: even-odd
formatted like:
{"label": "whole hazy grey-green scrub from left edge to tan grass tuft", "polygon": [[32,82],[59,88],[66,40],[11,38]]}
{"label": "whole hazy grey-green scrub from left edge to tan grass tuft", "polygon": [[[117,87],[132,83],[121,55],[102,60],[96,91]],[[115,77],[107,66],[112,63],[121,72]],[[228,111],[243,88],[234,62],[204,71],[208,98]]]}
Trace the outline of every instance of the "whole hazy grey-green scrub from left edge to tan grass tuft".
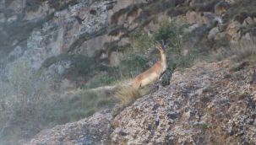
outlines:
{"label": "whole hazy grey-green scrub from left edge to tan grass tuft", "polygon": [[[83,90],[73,98],[61,98],[55,79],[30,70],[29,62],[15,62],[10,76],[0,82],[0,142],[4,144],[17,144],[47,127],[78,121],[115,102],[106,90]],[[101,81],[110,83],[112,78]]]}

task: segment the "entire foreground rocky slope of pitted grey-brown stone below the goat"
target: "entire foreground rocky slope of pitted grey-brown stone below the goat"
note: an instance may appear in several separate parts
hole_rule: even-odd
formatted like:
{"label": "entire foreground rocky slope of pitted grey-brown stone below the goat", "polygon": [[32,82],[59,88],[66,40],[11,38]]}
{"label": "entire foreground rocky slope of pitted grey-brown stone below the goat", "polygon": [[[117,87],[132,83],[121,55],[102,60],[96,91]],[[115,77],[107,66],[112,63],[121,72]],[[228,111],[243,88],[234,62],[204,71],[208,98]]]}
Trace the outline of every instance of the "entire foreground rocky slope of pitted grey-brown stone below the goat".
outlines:
{"label": "entire foreground rocky slope of pitted grey-brown stone below the goat", "polygon": [[199,63],[119,115],[56,126],[28,144],[255,144],[255,62]]}

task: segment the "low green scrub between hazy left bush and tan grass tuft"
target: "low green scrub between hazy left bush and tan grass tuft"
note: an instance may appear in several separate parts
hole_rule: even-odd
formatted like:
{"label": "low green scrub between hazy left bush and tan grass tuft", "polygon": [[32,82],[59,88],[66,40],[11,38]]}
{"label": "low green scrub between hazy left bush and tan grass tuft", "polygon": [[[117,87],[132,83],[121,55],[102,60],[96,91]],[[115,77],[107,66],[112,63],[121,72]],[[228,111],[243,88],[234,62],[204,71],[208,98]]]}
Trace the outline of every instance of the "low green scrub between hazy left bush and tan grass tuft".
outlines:
{"label": "low green scrub between hazy left bush and tan grass tuft", "polygon": [[78,121],[93,115],[96,111],[114,105],[115,100],[103,90],[82,90],[70,99],[60,99],[52,105],[52,111],[46,113],[47,121],[52,125]]}

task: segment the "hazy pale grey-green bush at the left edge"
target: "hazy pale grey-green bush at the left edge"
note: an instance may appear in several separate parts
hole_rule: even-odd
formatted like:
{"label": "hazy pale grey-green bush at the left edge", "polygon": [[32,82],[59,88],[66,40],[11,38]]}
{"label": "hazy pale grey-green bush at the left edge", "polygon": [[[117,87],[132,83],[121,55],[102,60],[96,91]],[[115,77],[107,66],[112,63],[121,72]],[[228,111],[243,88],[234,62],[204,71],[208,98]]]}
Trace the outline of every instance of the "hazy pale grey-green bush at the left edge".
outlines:
{"label": "hazy pale grey-green bush at the left edge", "polygon": [[0,139],[15,142],[41,130],[42,107],[50,98],[52,80],[38,78],[30,72],[30,63],[14,62],[10,76],[0,85]]}

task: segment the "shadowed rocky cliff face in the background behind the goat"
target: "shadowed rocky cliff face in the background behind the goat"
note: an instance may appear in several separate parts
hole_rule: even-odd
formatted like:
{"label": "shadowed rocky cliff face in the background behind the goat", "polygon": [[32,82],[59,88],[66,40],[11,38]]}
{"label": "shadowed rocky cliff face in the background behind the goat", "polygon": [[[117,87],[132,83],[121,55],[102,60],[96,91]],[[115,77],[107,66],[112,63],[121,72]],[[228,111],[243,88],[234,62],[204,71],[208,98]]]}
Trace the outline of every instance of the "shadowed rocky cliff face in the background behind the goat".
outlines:
{"label": "shadowed rocky cliff face in the background behind the goat", "polygon": [[[0,62],[6,72],[15,62],[25,61],[31,70],[46,67],[60,76],[70,70],[79,72],[68,55],[89,56],[118,66],[122,58],[117,49],[130,44],[131,33],[142,29],[154,32],[166,19],[190,24],[185,31],[194,35],[188,47],[218,49],[228,42],[252,40],[256,20],[254,2],[248,5],[250,2],[1,0]],[[205,33],[196,35],[194,31],[200,29]],[[200,44],[202,41],[207,43]]]}

